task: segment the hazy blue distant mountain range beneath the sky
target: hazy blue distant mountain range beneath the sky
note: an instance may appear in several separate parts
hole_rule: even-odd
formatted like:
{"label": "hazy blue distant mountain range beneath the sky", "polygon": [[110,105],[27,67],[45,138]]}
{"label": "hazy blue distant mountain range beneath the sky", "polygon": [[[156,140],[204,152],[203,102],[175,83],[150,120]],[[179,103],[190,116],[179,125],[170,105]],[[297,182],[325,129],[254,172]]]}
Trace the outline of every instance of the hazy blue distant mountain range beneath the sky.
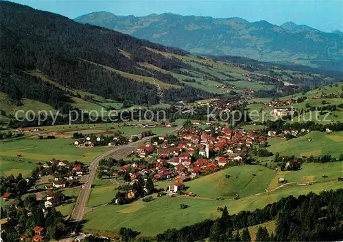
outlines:
{"label": "hazy blue distant mountain range beneath the sky", "polygon": [[177,14],[117,16],[93,12],[75,18],[158,44],[185,49],[195,55],[237,55],[268,62],[291,62],[329,70],[343,70],[343,35],[307,25],[243,18],[212,18]]}

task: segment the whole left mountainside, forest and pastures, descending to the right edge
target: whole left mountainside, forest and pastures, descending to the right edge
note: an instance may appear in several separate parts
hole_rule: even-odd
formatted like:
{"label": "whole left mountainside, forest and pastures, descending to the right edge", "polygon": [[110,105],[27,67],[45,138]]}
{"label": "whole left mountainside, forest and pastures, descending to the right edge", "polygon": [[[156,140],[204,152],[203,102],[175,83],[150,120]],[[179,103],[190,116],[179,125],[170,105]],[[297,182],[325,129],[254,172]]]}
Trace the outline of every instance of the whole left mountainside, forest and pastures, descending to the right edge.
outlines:
{"label": "whole left mountainside, forest and pastures, descending to the right edge", "polygon": [[160,108],[208,98],[288,95],[343,78],[342,72],[308,66],[191,55],[51,12],[0,3],[0,122],[19,108],[64,114]]}

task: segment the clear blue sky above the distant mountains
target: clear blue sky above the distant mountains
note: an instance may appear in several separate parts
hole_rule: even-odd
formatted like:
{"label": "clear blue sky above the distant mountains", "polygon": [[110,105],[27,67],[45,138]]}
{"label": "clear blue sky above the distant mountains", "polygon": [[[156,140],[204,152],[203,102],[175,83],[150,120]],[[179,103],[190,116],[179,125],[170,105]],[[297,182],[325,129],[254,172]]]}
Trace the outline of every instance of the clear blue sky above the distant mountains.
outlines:
{"label": "clear blue sky above the distant mountains", "polygon": [[292,21],[321,31],[343,31],[343,0],[12,0],[69,18],[97,11],[145,16],[171,12],[181,15],[240,17],[275,25]]}

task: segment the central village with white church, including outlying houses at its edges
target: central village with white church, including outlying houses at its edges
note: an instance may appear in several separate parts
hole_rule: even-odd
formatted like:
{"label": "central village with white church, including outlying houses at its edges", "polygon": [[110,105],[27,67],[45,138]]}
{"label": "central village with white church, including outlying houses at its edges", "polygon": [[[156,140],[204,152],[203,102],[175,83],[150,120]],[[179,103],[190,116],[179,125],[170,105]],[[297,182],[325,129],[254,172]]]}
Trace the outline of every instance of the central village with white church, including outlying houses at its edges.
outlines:
{"label": "central village with white church, including outlying houses at its edges", "polygon": [[176,135],[156,135],[143,146],[138,146],[130,154],[132,160],[118,169],[108,161],[100,162],[99,173],[103,175],[111,171],[108,176],[125,176],[124,180],[130,185],[140,178],[151,178],[154,182],[170,180],[167,193],[183,194],[184,182],[228,166],[241,165],[246,159],[246,148],[263,146],[266,142],[266,137],[257,135],[257,131],[230,129],[228,126],[200,129],[200,124],[210,125],[211,122],[193,120],[189,129],[180,129]]}

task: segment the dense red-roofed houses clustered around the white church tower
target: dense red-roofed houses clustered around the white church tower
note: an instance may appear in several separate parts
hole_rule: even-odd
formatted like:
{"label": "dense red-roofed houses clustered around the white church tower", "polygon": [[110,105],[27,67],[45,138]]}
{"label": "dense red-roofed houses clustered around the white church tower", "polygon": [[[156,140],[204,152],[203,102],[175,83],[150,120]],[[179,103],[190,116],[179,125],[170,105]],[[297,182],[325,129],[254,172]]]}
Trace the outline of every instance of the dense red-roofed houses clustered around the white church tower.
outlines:
{"label": "dense red-roofed houses clustered around the white church tower", "polygon": [[[163,140],[163,144],[146,142],[145,146],[137,149],[141,157],[152,152],[149,157],[156,159],[154,167],[147,169],[144,165],[133,163],[121,167],[117,174],[128,172],[132,181],[138,176],[150,176],[154,181],[177,177],[180,179],[178,184],[181,184],[200,174],[215,172],[228,163],[241,163],[246,155],[246,147],[252,146],[254,142],[264,144],[266,140],[264,136],[255,135],[255,131],[235,130],[227,126],[216,127],[215,133],[216,137],[212,136],[210,129],[182,129],[178,133],[181,141],[177,144],[160,136],[158,138]],[[215,153],[220,156],[211,157]]]}

